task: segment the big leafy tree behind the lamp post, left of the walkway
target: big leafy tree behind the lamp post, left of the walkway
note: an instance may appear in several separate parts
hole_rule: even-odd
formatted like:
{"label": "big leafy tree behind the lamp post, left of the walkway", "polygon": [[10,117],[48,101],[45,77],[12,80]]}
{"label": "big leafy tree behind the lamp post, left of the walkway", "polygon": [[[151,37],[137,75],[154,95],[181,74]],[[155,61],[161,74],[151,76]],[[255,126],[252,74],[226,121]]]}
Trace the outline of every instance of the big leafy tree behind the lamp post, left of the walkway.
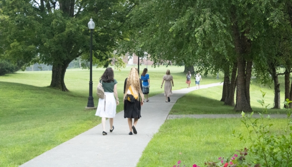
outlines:
{"label": "big leafy tree behind the lamp post, left of the walkway", "polygon": [[123,23],[134,5],[130,0],[3,0],[3,12],[9,15],[7,53],[27,61],[39,57],[53,65],[50,86],[68,91],[64,78],[69,63],[89,57],[90,17],[95,22],[93,56],[106,67],[123,39]]}

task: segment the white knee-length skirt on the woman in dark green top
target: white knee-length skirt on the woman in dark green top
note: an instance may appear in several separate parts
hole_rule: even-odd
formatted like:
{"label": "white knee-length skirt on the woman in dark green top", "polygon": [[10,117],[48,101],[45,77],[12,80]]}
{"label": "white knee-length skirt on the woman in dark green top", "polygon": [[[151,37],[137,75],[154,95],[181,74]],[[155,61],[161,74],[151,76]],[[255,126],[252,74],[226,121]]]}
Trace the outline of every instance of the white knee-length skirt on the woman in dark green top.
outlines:
{"label": "white knee-length skirt on the woman in dark green top", "polygon": [[104,92],[105,98],[99,98],[95,115],[106,118],[116,116],[117,103],[113,92]]}

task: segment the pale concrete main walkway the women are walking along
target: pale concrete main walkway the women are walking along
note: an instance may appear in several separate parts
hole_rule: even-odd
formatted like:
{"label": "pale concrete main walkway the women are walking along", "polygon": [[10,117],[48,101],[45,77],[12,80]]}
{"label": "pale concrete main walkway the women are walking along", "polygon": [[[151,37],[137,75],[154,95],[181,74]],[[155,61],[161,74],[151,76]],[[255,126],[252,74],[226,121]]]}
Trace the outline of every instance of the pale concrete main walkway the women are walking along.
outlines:
{"label": "pale concrete main walkway the women are walking along", "polygon": [[[200,87],[208,88],[221,84],[213,83]],[[136,126],[137,135],[128,135],[129,126],[122,111],[114,119],[115,129],[112,133],[109,132],[107,120],[108,135],[101,134],[102,126],[99,124],[21,167],[136,167],[142,152],[166,120],[176,100],[193,90],[196,90],[196,87],[174,90],[171,101],[167,103],[162,93],[150,97],[149,102],[142,106],[142,117]]]}

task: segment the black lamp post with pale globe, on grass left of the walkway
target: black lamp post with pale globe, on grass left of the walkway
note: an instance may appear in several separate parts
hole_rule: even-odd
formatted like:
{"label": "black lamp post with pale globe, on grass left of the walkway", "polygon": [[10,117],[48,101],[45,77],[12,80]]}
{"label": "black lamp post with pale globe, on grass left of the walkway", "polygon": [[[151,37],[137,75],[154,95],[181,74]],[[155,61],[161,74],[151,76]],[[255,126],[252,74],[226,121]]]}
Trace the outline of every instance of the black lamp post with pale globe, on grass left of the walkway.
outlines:
{"label": "black lamp post with pale globe, on grass left of the walkway", "polygon": [[88,28],[90,29],[90,81],[89,81],[89,97],[87,102],[87,108],[94,108],[94,102],[92,97],[92,30],[94,29],[95,23],[90,18],[88,22]]}

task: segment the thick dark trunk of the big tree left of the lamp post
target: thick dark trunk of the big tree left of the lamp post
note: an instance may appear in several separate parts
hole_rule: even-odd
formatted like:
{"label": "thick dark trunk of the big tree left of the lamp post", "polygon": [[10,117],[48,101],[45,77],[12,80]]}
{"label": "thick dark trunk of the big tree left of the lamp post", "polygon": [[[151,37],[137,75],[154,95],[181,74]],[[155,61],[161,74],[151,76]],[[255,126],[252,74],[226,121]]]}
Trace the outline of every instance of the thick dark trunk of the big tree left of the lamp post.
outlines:
{"label": "thick dark trunk of the big tree left of the lamp post", "polygon": [[64,78],[66,69],[71,61],[65,61],[63,64],[54,64],[52,69],[51,87],[62,91],[69,91],[65,85]]}

